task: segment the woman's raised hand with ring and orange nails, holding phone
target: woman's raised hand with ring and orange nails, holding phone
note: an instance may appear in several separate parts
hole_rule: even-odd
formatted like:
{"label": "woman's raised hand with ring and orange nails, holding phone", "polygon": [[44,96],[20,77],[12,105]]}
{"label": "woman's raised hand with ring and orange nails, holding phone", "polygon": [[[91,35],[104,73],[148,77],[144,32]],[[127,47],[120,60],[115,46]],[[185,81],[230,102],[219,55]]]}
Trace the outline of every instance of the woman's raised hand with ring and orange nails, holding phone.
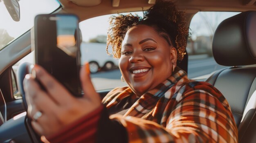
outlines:
{"label": "woman's raised hand with ring and orange nails, holding phone", "polygon": [[[27,115],[31,119],[38,117],[33,119],[31,123],[38,134],[50,136],[101,106],[100,96],[94,90],[90,80],[88,63],[80,71],[84,91],[82,98],[72,96],[62,84],[42,67],[36,65],[33,72],[36,74],[36,79],[46,89],[45,91],[40,88],[33,76],[34,74],[26,75],[23,84],[28,104]],[[37,115],[35,116],[35,114]]]}

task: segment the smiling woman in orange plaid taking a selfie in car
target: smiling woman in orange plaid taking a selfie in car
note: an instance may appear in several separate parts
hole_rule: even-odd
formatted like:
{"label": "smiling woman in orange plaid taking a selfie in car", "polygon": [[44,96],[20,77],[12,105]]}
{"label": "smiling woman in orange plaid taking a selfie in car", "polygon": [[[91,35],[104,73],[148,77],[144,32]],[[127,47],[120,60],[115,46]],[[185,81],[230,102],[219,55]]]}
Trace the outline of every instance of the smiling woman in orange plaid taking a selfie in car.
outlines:
{"label": "smiling woman in orange plaid taking a selfie in car", "polygon": [[53,143],[237,142],[223,95],[208,83],[189,80],[176,66],[185,54],[185,26],[184,13],[173,2],[157,1],[144,18],[112,16],[108,45],[120,58],[128,87],[113,89],[102,104],[88,64],[81,69],[81,99],[36,65],[34,73],[46,91],[31,75],[24,81],[34,130]]}

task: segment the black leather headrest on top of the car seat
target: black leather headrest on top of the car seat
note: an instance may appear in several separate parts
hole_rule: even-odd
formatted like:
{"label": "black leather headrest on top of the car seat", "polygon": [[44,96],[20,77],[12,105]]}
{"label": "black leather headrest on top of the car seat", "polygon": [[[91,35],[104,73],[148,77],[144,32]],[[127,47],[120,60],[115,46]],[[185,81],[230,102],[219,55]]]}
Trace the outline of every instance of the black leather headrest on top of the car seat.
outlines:
{"label": "black leather headrest on top of the car seat", "polygon": [[256,64],[256,11],[220,23],[213,37],[213,57],[223,66]]}

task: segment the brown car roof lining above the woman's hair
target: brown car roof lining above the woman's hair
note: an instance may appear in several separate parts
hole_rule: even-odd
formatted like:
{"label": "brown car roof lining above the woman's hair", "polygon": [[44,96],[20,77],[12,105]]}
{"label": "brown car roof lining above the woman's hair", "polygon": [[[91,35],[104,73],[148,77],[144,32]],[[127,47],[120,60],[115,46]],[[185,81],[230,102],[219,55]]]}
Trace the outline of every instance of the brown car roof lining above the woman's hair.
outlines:
{"label": "brown car roof lining above the woman's hair", "polygon": [[[112,13],[133,12],[148,9],[154,0],[102,0],[100,4],[86,7],[79,5],[84,0],[59,0],[63,6],[61,13],[74,13],[80,20],[86,20],[100,15]],[[170,1],[170,0],[168,0]],[[186,13],[195,14],[198,11],[248,11],[256,10],[256,0],[172,0],[177,3],[179,9]],[[114,5],[114,7],[113,7]],[[101,9],[101,11],[99,11]],[[188,18],[190,21],[190,18]]]}

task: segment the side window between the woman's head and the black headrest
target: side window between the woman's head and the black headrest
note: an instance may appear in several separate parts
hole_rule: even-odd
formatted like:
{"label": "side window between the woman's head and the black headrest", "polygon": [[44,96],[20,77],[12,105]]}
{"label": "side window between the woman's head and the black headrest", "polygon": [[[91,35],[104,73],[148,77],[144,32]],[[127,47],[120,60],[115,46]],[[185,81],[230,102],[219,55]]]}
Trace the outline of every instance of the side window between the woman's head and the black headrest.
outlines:
{"label": "side window between the woman's head and the black headrest", "polygon": [[214,71],[225,68],[213,58],[213,34],[220,22],[238,13],[200,11],[193,16],[189,26],[191,36],[186,48],[189,54],[189,78],[207,79]]}

